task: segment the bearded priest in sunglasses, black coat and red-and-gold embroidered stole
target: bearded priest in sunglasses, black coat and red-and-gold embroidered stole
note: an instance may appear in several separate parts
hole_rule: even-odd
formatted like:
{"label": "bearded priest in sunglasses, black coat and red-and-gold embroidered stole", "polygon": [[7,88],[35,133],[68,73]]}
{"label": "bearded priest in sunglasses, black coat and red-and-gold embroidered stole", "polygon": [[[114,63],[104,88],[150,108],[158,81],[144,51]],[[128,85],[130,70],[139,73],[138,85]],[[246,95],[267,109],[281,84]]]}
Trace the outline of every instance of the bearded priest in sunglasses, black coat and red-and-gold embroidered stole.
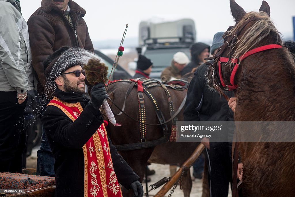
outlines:
{"label": "bearded priest in sunglasses, black coat and red-and-gold embroidered stole", "polygon": [[91,101],[84,96],[85,71],[80,65],[94,58],[83,49],[62,47],[44,62],[47,95],[57,87],[42,115],[55,157],[55,196],[119,197],[121,183],[142,197],[139,177],[117,153],[103,126],[99,108],[108,97],[104,84],[94,85]]}

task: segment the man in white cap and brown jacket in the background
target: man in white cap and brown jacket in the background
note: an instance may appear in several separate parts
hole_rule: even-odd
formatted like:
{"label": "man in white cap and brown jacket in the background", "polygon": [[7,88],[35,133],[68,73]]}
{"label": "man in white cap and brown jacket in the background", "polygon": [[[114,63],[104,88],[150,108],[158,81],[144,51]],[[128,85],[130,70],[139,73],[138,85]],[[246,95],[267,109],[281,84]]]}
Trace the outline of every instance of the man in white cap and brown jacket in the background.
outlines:
{"label": "man in white cap and brown jacket in the background", "polygon": [[173,79],[181,78],[181,71],[189,63],[189,58],[183,52],[177,52],[173,55],[171,66],[162,71],[162,81],[171,81]]}

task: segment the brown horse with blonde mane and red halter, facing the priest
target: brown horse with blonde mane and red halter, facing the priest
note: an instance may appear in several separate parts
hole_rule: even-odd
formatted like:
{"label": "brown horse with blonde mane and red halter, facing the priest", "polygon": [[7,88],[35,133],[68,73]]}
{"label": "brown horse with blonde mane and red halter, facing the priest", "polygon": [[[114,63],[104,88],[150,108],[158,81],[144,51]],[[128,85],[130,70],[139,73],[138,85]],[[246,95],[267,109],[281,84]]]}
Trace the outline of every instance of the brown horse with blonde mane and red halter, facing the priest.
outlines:
{"label": "brown horse with blonde mane and red halter, facing the priest", "polygon": [[[230,0],[230,8],[236,24],[224,33],[224,46],[220,53],[217,51],[213,69],[208,71],[209,85],[213,86],[213,80],[222,89],[236,85],[235,121],[294,121],[295,67],[286,48],[260,51],[240,63],[238,59],[233,83],[230,78],[235,64],[222,63],[219,73],[220,65],[216,63],[220,56],[236,59],[260,46],[283,45],[279,32],[269,19],[270,8],[265,1],[259,12],[246,13],[234,0]],[[240,139],[245,137],[240,132],[243,130],[245,128],[236,127]],[[294,133],[289,137],[294,139]],[[286,131],[270,128],[268,134],[284,137]],[[238,144],[243,162],[243,196],[294,196],[295,143]]]}

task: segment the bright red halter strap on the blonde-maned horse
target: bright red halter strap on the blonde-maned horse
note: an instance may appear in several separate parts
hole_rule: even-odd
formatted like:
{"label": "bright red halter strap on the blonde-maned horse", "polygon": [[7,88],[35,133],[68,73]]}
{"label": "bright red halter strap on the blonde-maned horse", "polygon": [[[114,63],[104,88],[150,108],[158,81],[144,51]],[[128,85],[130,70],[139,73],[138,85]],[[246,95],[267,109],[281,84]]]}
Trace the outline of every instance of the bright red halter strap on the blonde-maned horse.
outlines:
{"label": "bright red halter strap on the blonde-maned horse", "polygon": [[237,89],[237,85],[235,85],[234,79],[235,79],[235,74],[237,72],[237,69],[239,68],[241,61],[243,59],[245,59],[246,57],[253,55],[254,53],[258,53],[260,51],[265,51],[268,49],[275,49],[275,48],[282,48],[282,46],[276,45],[276,44],[260,46],[260,47],[254,48],[250,51],[247,51],[246,53],[244,53],[241,57],[238,57],[237,59],[231,59],[230,60],[231,63],[235,64],[234,68],[232,69],[232,73],[230,75],[230,84],[231,85],[225,85],[224,80],[222,78],[222,74],[221,74],[221,62],[228,62],[229,58],[220,57],[219,61],[218,61],[218,71],[219,71],[219,79],[220,79],[222,86],[223,87],[227,86],[229,88],[229,90]]}

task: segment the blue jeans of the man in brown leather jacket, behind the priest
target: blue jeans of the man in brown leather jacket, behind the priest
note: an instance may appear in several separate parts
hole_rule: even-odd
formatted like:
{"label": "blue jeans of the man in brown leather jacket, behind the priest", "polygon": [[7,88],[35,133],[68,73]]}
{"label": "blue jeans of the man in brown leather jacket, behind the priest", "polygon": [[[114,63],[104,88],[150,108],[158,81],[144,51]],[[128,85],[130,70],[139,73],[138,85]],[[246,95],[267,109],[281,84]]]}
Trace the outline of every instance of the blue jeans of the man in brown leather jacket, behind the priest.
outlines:
{"label": "blue jeans of the man in brown leather jacket, behind the priest", "polygon": [[40,150],[37,151],[37,175],[55,177],[55,159],[51,152],[44,129],[42,131],[42,143]]}

